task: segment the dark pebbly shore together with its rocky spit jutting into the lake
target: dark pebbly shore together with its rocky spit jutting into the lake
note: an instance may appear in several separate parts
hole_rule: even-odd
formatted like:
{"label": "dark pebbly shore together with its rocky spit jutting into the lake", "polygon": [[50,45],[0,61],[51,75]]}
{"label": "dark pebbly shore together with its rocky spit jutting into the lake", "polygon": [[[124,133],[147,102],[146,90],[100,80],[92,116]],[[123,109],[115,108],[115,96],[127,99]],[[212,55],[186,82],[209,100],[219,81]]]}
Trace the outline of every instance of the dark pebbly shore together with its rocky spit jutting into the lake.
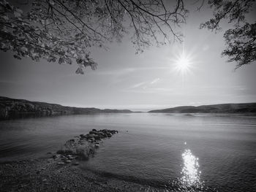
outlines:
{"label": "dark pebbly shore together with its rocky spit jutting into the lake", "polygon": [[0,164],[0,191],[162,191],[148,185],[105,177],[80,169],[116,130],[91,130],[69,139],[44,158]]}

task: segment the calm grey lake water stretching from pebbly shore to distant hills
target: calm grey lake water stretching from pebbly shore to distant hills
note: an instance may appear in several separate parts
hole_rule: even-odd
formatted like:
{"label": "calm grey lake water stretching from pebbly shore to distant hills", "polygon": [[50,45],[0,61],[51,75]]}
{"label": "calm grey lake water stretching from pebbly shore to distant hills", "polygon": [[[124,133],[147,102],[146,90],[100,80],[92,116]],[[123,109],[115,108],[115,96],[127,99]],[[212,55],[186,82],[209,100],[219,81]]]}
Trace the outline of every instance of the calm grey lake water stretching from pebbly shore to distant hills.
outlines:
{"label": "calm grey lake water stretching from pebbly shore to distant hills", "polygon": [[[256,191],[256,116],[99,114],[0,121],[0,161],[37,158],[92,128],[116,129],[81,169],[154,186]],[[177,184],[179,183],[179,184]]]}

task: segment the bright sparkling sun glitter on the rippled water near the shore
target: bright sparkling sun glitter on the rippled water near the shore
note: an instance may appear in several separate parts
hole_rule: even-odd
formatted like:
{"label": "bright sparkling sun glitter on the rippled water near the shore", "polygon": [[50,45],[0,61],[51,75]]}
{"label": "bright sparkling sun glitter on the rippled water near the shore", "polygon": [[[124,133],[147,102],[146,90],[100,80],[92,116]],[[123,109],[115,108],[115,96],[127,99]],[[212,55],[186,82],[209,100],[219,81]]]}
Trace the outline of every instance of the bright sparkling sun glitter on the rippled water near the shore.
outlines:
{"label": "bright sparkling sun glitter on the rippled water near the shore", "polygon": [[184,150],[182,153],[183,167],[181,170],[181,185],[184,188],[203,188],[203,182],[200,181],[200,170],[198,158],[192,154],[191,150]]}

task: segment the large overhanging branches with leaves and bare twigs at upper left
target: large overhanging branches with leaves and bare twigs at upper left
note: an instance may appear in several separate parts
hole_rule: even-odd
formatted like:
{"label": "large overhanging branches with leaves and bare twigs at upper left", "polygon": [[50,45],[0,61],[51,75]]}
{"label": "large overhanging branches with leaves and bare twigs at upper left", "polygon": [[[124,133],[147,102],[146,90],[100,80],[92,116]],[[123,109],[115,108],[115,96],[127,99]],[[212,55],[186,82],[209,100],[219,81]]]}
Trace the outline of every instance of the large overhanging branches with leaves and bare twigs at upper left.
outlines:
{"label": "large overhanging branches with leaves and bare twigs at upper left", "polygon": [[185,23],[187,9],[182,0],[168,7],[162,0],[1,0],[0,50],[18,59],[76,62],[83,74],[86,66],[97,67],[91,47],[107,48],[128,32],[136,53],[180,40],[176,26]]}

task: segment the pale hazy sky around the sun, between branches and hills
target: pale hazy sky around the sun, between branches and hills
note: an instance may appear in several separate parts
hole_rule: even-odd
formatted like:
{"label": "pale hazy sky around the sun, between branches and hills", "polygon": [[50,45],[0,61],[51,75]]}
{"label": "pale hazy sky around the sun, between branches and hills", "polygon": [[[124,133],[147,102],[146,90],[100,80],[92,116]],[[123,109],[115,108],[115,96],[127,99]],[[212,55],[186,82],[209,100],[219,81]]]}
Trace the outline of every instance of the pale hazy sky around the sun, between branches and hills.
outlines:
{"label": "pale hazy sky around the sun, between branches and hills", "polygon": [[[190,9],[182,26],[184,42],[149,47],[135,54],[129,35],[109,50],[95,48],[91,55],[98,68],[75,74],[76,64],[59,65],[29,58],[17,60],[0,52],[0,96],[45,101],[74,107],[148,111],[181,105],[256,102],[256,64],[236,69],[221,57],[222,31],[199,29],[211,10]],[[247,19],[255,22],[255,14]],[[189,69],[177,69],[180,54],[189,58]]]}

